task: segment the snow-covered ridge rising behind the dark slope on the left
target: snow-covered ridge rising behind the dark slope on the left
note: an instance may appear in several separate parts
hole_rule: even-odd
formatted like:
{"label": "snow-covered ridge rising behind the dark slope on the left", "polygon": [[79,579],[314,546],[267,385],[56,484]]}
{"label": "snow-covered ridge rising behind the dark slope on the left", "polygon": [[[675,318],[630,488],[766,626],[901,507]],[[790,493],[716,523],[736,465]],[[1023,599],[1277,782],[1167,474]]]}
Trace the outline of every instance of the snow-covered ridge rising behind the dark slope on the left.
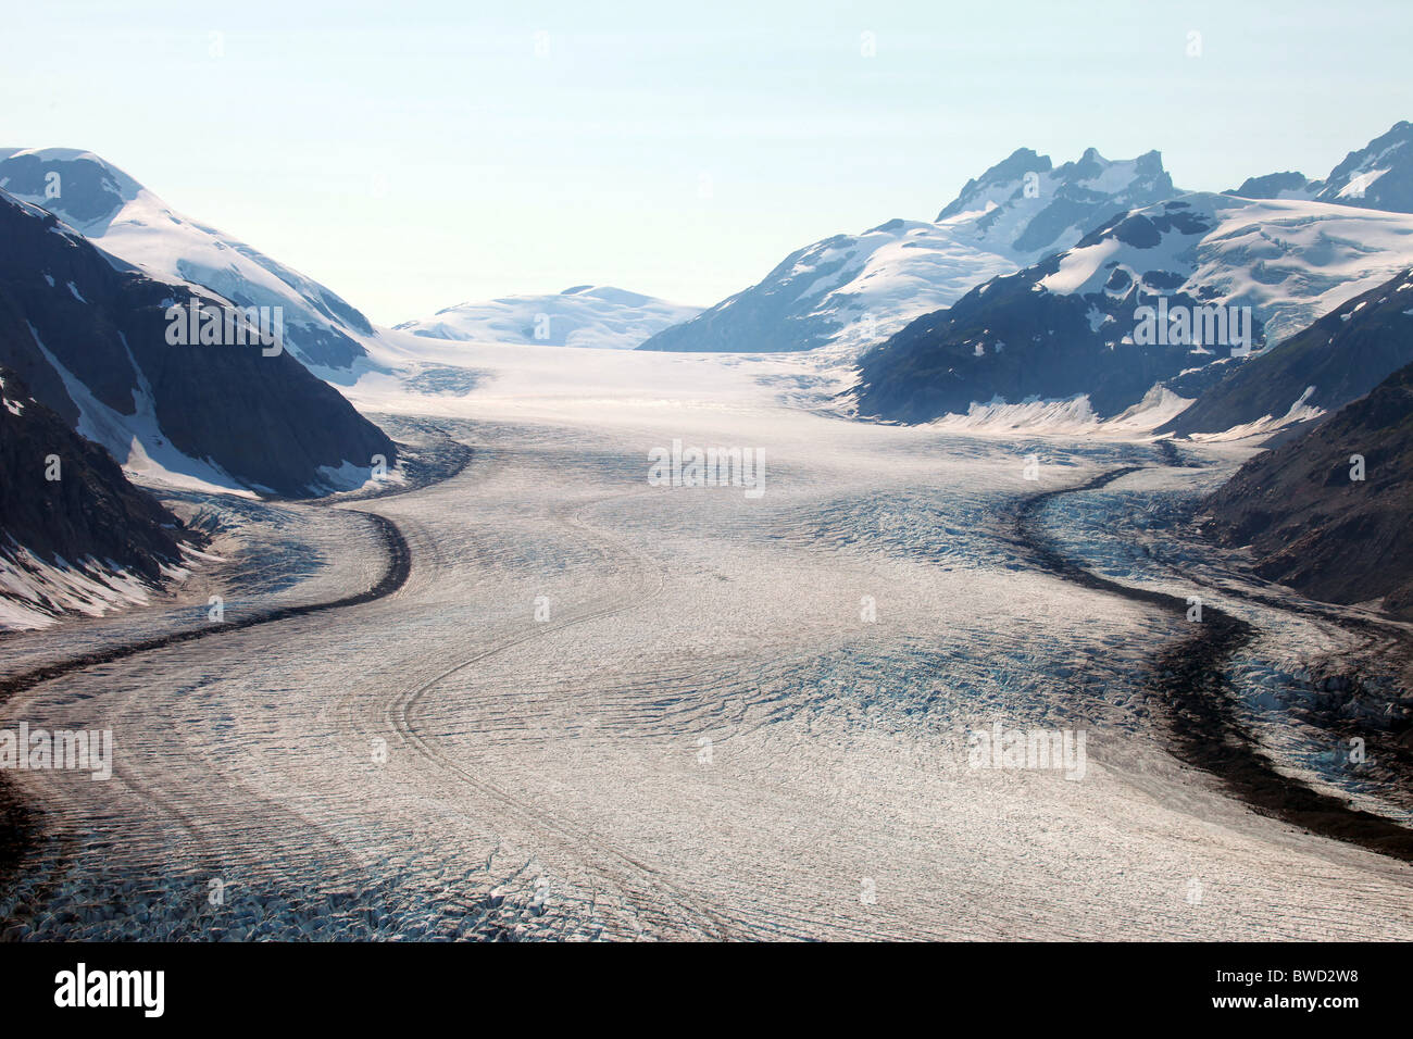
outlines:
{"label": "snow-covered ridge rising behind the dark slope on the left", "polygon": [[174,212],[116,165],[73,148],[0,148],[0,188],[48,209],[153,278],[201,286],[240,307],[283,307],[284,345],[315,375],[350,383],[372,366],[373,325],[324,286]]}

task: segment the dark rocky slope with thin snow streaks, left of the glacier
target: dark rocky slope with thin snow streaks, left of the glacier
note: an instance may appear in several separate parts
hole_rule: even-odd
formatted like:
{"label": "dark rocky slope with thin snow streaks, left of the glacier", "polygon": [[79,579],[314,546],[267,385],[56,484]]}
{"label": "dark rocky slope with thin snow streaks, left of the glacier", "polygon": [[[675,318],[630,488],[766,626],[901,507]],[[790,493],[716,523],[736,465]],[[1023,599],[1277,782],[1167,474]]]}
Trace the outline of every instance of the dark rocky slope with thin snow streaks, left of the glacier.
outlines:
{"label": "dark rocky slope with thin snow streaks, left of the glacier", "polygon": [[[120,270],[54,213],[0,189],[0,365],[130,472],[184,486],[318,495],[362,485],[393,442],[288,352],[177,345],[174,305],[230,301]],[[8,488],[4,488],[8,493]]]}

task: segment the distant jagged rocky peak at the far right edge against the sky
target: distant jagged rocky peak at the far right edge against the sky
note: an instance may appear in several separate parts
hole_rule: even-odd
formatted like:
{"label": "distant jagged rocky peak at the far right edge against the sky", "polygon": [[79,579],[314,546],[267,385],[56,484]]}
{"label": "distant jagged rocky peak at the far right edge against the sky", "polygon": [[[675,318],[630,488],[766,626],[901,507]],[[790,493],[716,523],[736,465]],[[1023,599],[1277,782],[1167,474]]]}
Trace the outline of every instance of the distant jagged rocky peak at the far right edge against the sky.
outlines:
{"label": "distant jagged rocky peak at the far right edge against the sky", "polygon": [[1323,181],[1299,172],[1266,174],[1226,194],[1413,212],[1413,123],[1395,123],[1386,134],[1345,155]]}

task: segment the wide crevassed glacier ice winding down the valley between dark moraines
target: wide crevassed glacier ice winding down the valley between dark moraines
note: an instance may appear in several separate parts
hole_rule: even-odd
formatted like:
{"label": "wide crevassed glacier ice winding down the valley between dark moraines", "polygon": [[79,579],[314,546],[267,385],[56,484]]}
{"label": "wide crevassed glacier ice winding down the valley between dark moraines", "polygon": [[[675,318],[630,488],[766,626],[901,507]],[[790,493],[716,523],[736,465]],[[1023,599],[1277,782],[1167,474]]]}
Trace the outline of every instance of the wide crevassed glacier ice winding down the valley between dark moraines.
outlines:
{"label": "wide crevassed glacier ice winding down the valley between dark moraines", "polygon": [[[110,728],[116,761],[106,783],[6,773],[41,813],[0,888],[10,936],[1413,939],[1406,864],[1167,752],[1142,676],[1184,618],[1046,573],[1006,522],[1143,466],[1043,522],[1113,580],[1191,594],[1173,567],[1202,560],[1109,532],[1249,447],[1171,468],[1082,414],[1047,437],[851,423],[818,358],[404,346],[410,377],[350,396],[400,440],[469,444],[458,475],[333,505],[184,492],[220,563],[4,639],[0,681],[206,625],[212,594],[237,616],[356,592],[387,565],[365,512],[411,554],[384,598],[13,695],[0,728]],[[674,440],[763,452],[763,496],[649,486]],[[1405,820],[1262,698],[1347,636],[1241,609],[1272,752]],[[996,722],[1085,732],[1084,777],[972,768]]]}

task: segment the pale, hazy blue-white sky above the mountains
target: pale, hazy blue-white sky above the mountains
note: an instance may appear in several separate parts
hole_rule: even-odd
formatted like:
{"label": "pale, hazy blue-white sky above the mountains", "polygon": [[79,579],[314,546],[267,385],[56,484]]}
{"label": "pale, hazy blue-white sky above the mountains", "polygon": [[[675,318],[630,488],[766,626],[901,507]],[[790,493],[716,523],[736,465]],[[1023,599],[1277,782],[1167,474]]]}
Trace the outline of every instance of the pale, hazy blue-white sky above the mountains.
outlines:
{"label": "pale, hazy blue-white sky above the mountains", "polygon": [[[933,219],[1017,147],[1180,188],[1413,119],[1413,4],[45,3],[0,146],[76,147],[391,325],[613,284],[708,305]],[[1195,35],[1194,35],[1195,34]]]}

